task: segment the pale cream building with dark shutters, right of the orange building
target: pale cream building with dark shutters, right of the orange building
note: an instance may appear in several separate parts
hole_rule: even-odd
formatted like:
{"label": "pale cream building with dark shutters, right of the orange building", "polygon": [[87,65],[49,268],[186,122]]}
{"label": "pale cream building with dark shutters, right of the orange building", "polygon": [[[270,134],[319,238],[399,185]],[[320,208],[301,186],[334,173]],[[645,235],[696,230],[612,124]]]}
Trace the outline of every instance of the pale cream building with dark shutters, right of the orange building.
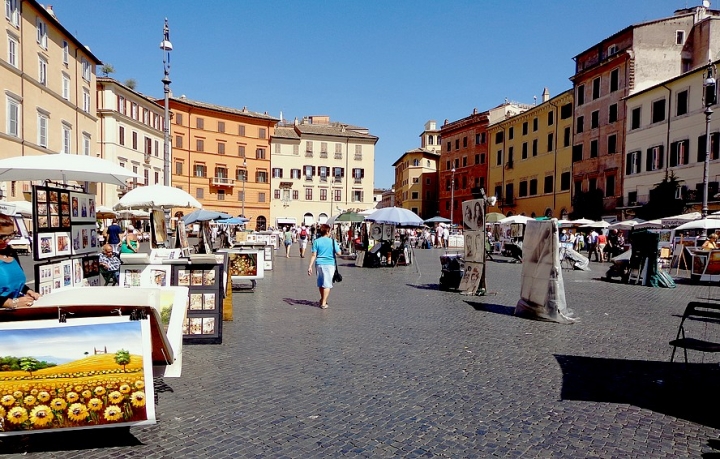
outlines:
{"label": "pale cream building with dark shutters, right of the orange building", "polygon": [[347,209],[375,206],[375,144],[367,128],[308,116],[278,125],[272,137],[276,225],[324,223]]}

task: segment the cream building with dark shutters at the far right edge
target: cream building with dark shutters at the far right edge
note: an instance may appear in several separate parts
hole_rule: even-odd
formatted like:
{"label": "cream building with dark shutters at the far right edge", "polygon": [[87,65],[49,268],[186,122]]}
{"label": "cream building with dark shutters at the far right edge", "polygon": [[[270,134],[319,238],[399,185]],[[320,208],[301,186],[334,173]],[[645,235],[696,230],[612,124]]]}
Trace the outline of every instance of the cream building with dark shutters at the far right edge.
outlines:
{"label": "cream building with dark shutters at the far right edge", "polygon": [[[650,191],[670,176],[680,181],[678,198],[693,210],[701,210],[707,139],[704,73],[700,67],[626,99],[630,116],[625,134],[624,217],[634,216],[650,200]],[[708,201],[712,212],[720,209],[720,120],[716,116],[711,118],[710,140]]]}

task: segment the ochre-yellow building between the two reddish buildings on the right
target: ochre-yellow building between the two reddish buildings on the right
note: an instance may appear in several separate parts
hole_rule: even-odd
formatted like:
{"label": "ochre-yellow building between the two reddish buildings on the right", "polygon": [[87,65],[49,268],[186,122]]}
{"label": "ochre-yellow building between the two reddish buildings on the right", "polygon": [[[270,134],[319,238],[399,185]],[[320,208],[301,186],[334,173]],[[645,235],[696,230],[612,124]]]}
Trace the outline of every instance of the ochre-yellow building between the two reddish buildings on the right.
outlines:
{"label": "ochre-yellow building between the two reddish buildings on the right", "polygon": [[491,125],[488,195],[500,212],[566,218],[571,212],[573,91]]}

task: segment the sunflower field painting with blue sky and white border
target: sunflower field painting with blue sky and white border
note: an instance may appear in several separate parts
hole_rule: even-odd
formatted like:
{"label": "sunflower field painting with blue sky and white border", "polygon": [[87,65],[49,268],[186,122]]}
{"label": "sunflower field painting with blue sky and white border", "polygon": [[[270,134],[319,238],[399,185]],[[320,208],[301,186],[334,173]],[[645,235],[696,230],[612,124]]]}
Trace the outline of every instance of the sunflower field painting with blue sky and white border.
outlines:
{"label": "sunflower field painting with blue sky and white border", "polygon": [[154,399],[148,320],[0,323],[0,437],[153,424]]}

